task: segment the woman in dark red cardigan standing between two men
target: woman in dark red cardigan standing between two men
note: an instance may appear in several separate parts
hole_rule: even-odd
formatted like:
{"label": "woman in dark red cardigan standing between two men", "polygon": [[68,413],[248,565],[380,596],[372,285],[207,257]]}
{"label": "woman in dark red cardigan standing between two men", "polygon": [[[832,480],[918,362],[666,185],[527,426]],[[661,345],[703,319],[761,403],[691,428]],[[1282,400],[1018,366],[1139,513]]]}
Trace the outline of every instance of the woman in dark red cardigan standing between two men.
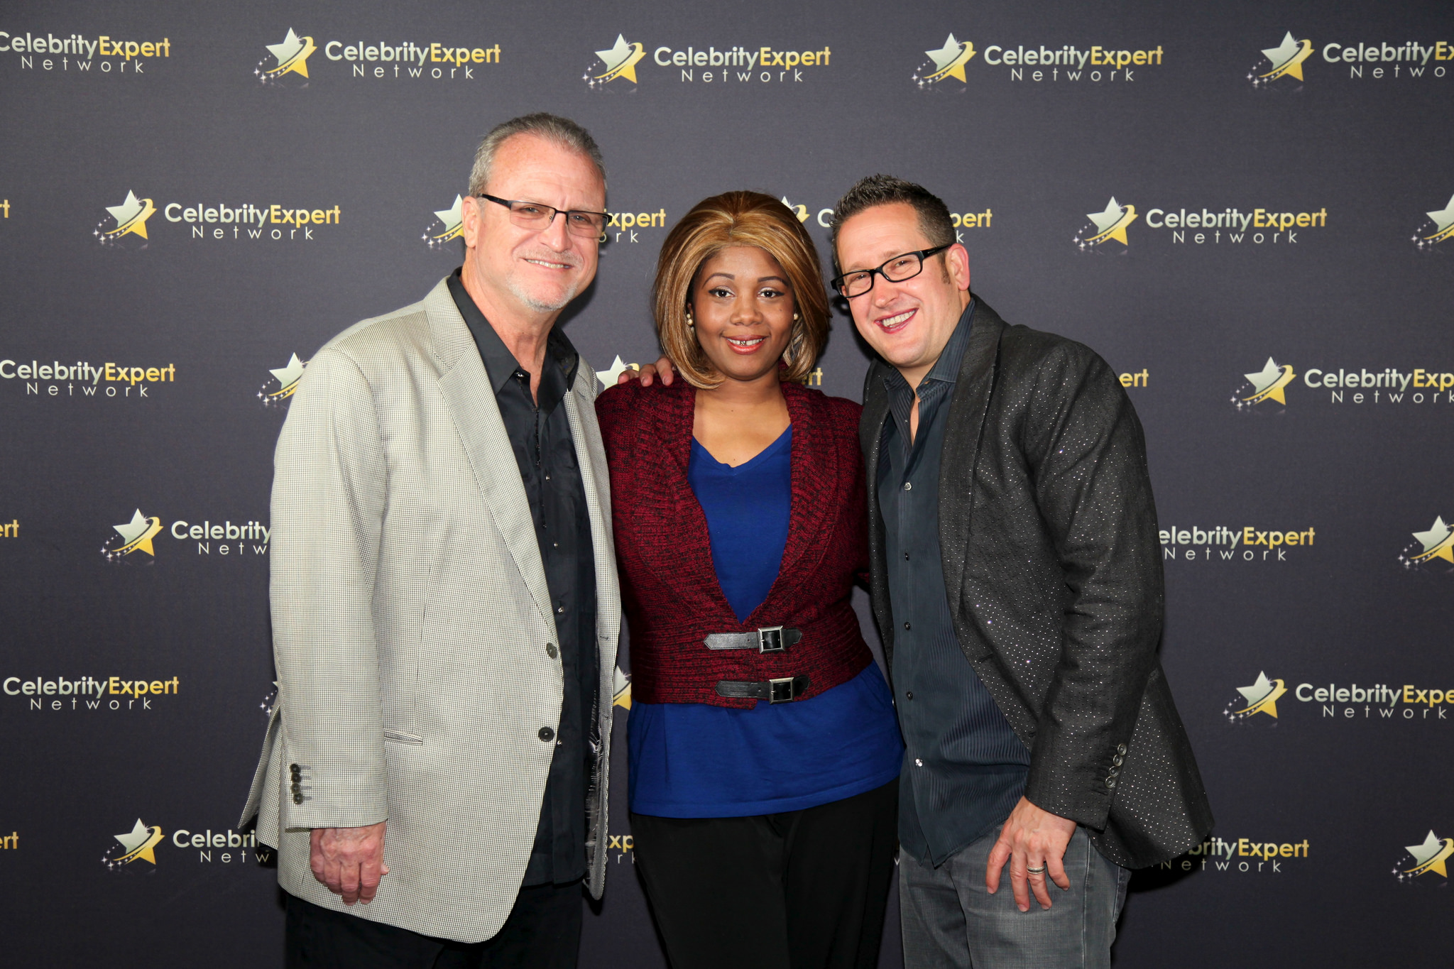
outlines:
{"label": "woman in dark red cardigan standing between two men", "polygon": [[596,404],[653,917],[673,969],[874,966],[903,745],[851,604],[859,405],[801,385],[827,337],[813,240],[771,196],[705,199],[654,315],[683,379]]}

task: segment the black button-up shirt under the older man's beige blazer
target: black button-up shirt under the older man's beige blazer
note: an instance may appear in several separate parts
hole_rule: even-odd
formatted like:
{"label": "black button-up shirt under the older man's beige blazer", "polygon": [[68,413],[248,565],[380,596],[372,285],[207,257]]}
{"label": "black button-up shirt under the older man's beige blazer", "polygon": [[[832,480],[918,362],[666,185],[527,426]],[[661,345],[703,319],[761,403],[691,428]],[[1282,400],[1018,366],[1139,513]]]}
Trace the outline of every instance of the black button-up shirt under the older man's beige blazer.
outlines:
{"label": "black button-up shirt under the older man's beige blazer", "polygon": [[[599,673],[590,511],[564,404],[580,366],[580,354],[560,330],[551,330],[537,405],[531,398],[531,375],[475,307],[458,272],[449,277],[449,295],[480,349],[505,433],[515,450],[560,636],[564,697],[523,885],[574,882],[586,873],[589,731],[596,710]],[[539,644],[539,648],[547,646]]]}

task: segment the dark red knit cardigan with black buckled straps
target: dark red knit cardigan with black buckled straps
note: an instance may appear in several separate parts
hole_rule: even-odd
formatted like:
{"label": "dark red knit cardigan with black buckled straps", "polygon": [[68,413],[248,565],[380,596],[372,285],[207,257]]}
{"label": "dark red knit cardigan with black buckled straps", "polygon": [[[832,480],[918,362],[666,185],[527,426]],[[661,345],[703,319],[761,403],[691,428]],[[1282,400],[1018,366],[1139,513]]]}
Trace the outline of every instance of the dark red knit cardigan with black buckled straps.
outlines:
{"label": "dark red knit cardigan with black buckled straps", "polygon": [[[768,597],[737,622],[717,581],[707,516],[688,484],[696,391],[637,382],[596,400],[611,465],[621,599],[631,632],[631,692],[643,703],[750,708],[718,680],[807,676],[803,697],[852,680],[872,661],[851,604],[868,569],[858,404],[784,384],[792,421],[792,500],[782,565]],[[708,649],[714,632],[787,626],[785,652]]]}

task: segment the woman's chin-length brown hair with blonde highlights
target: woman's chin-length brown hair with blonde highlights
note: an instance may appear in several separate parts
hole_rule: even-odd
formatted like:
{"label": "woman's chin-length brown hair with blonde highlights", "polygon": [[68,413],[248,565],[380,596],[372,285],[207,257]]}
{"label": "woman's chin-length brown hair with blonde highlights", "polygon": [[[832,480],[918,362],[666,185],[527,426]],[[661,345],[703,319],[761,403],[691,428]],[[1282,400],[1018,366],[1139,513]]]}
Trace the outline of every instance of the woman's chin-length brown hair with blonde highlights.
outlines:
{"label": "woman's chin-length brown hair with blonde highlights", "polygon": [[813,237],[792,209],[762,192],[724,192],[702,199],[667,232],[653,286],[653,315],[662,350],[692,386],[712,389],[723,382],[686,325],[686,307],[702,264],[731,246],[756,246],[787,273],[798,318],[792,321],[792,334],[782,352],[782,379],[807,381],[827,341],[827,291]]}

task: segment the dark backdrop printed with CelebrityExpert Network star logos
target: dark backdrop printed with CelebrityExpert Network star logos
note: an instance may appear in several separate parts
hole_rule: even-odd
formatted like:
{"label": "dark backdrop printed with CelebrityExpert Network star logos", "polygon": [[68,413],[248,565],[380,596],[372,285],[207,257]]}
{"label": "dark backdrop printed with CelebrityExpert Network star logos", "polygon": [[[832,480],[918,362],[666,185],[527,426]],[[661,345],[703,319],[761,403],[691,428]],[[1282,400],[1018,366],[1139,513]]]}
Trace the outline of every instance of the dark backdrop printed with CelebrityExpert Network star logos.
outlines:
{"label": "dark backdrop printed with CelebrityExpert Network star logos", "polygon": [[[1137,873],[1118,966],[1447,965],[1454,9],[1194,7],[0,7],[12,965],[281,966],[275,861],[233,828],[273,693],[273,443],[318,346],[459,264],[473,150],[532,110],[606,155],[564,318],[602,379],[656,359],[692,203],[769,192],[827,269],[875,171],[945,199],[981,299],[1121,375],[1217,828]],[[811,385],[856,400],[865,353],[839,311]],[[664,965],[621,665],[590,968]]]}

